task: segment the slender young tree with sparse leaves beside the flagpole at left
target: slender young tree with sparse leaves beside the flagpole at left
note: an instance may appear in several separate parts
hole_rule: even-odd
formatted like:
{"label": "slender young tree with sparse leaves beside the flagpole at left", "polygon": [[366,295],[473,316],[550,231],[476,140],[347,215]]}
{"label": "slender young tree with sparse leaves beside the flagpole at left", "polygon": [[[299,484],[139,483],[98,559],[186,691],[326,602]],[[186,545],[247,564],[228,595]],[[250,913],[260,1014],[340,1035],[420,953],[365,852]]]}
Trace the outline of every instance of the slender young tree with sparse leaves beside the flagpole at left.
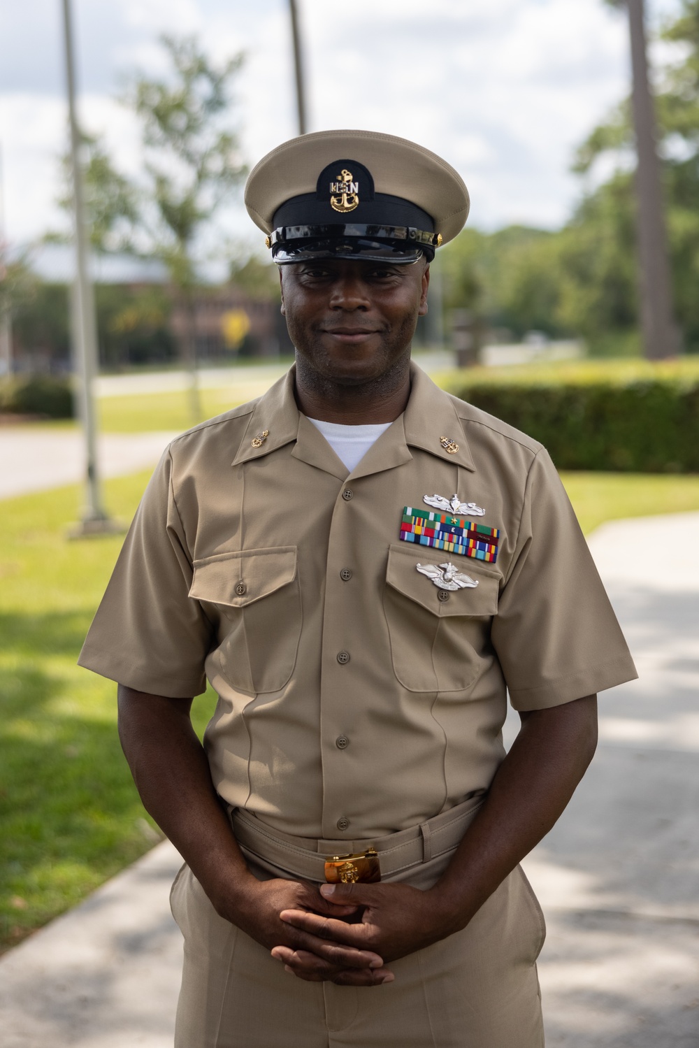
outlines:
{"label": "slender young tree with sparse leaves beside the flagpole at left", "polygon": [[[86,209],[95,250],[158,258],[167,266],[187,319],[180,355],[192,373],[192,416],[198,421],[194,294],[206,257],[203,235],[246,172],[238,137],[228,127],[232,83],[243,58],[237,54],[217,66],[193,37],[160,40],[168,75],[152,80],[133,73],[122,99],[140,124],[143,175],[128,178],[112,162],[103,138],[84,136]],[[69,157],[61,163],[59,203],[69,211]],[[49,239],[63,238],[51,234]],[[141,326],[149,328],[146,322]]]}

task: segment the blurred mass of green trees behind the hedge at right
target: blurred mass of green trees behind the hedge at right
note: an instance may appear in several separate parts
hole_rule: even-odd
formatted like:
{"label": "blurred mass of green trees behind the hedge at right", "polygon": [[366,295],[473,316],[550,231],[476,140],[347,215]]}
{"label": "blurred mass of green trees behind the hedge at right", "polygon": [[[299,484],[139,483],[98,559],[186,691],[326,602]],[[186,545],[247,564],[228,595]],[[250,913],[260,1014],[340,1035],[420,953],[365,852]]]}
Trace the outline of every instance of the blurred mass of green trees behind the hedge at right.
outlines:
{"label": "blurred mass of green trees behind the hedge at right", "polygon": [[[699,0],[683,0],[662,38],[680,45],[656,89],[674,306],[686,350],[699,351]],[[603,157],[613,171],[595,184]],[[594,354],[638,352],[634,166],[627,99],[576,152],[573,170],[589,176],[588,191],[562,230],[468,230],[443,249],[447,305],[514,336],[534,327],[582,335]]]}

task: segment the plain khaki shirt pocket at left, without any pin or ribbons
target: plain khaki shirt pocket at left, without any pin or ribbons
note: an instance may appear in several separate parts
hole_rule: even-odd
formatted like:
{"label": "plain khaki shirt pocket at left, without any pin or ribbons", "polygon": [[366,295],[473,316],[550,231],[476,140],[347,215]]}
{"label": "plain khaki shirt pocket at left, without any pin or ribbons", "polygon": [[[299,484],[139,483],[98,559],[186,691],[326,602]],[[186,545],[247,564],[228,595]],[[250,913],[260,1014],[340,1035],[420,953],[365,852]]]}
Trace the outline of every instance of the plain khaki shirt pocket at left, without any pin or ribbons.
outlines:
{"label": "plain khaki shirt pocket at left, without any pin or ribbons", "polygon": [[288,683],[302,624],[296,546],[195,561],[190,596],[219,619],[216,661],[233,687],[277,692]]}

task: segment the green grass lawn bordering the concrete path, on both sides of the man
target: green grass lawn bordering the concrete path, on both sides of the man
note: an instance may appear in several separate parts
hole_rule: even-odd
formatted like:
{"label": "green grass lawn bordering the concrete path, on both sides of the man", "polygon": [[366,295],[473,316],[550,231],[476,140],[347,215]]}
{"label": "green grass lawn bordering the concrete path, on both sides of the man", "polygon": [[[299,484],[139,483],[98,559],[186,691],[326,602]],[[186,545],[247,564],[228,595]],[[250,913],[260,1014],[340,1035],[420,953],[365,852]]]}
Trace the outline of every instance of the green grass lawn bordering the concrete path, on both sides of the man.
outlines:
{"label": "green grass lawn bordering the concrete path, on both sides of the man", "polygon": [[[129,521],[147,480],[108,481],[110,512]],[[588,532],[613,518],[699,509],[695,476],[564,482]],[[77,485],[0,503],[0,948],[157,839],[116,737],[115,685],[75,665],[122,542],[68,542],[79,504]],[[195,702],[199,733],[213,704],[211,692]]]}

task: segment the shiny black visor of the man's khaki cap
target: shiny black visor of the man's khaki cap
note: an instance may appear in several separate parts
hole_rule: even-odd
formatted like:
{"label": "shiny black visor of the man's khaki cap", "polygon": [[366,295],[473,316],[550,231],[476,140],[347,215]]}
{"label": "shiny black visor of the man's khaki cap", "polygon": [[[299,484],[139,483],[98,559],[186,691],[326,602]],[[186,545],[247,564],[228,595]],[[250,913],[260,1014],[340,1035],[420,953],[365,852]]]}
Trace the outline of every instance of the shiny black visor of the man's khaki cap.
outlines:
{"label": "shiny black visor of the man's khaki cap", "polygon": [[309,259],[362,259],[409,265],[424,255],[435,256],[437,235],[413,226],[362,224],[286,225],[270,237],[272,261],[278,265]]}

